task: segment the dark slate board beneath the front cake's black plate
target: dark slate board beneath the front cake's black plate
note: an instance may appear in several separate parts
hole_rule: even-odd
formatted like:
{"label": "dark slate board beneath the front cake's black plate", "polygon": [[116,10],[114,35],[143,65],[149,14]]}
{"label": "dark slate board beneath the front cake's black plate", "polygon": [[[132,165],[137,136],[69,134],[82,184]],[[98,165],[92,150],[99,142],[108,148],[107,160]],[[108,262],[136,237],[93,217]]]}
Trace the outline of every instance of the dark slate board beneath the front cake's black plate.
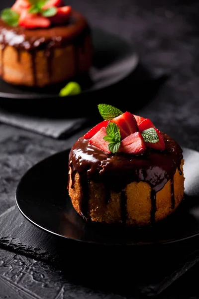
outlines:
{"label": "dark slate board beneath the front cake's black plate", "polygon": [[147,248],[87,245],[34,227],[16,206],[1,214],[0,227],[1,248],[44,261],[76,284],[120,296],[156,296],[199,261],[198,238]]}

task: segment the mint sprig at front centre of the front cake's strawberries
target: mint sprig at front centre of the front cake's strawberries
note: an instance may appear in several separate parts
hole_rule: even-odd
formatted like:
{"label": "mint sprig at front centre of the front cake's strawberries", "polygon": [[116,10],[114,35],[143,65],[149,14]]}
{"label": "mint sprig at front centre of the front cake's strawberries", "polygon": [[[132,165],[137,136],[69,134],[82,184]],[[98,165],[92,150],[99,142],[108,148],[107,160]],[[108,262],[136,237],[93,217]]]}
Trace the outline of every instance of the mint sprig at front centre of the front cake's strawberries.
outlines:
{"label": "mint sprig at front centre of the front cake's strawberries", "polygon": [[117,152],[121,144],[119,127],[115,123],[109,123],[106,127],[106,135],[103,139],[109,143],[108,149],[112,153]]}

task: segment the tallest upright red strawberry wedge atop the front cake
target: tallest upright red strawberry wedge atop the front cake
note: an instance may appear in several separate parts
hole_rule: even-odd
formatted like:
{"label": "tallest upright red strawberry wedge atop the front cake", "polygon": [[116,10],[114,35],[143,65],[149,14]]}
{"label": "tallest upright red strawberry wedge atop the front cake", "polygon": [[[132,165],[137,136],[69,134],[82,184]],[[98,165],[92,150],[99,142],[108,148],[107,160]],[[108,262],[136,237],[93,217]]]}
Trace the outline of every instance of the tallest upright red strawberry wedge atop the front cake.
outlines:
{"label": "tallest upright red strawberry wedge atop the front cake", "polygon": [[115,117],[111,122],[119,127],[121,139],[139,131],[134,116],[129,112],[125,112],[118,117]]}

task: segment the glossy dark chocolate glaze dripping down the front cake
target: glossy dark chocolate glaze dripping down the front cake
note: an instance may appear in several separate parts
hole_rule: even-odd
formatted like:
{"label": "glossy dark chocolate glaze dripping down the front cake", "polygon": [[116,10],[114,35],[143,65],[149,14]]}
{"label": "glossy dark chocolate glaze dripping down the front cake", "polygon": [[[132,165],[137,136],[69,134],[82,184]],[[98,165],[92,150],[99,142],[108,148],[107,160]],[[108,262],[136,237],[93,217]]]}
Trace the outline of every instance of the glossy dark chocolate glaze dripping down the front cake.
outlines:
{"label": "glossy dark chocolate glaze dripping down the front cake", "polygon": [[[106,154],[100,149],[89,145],[88,140],[81,137],[73,146],[69,155],[69,167],[72,169],[72,185],[74,187],[75,173],[81,177],[82,196],[81,211],[88,217],[88,182],[103,182],[109,190],[121,192],[121,218],[125,223],[126,185],[136,181],[147,182],[151,186],[151,223],[155,222],[156,193],[171,179],[176,169],[180,170],[183,159],[182,149],[168,135],[163,134],[166,148],[164,151],[147,149],[143,155],[125,153]],[[179,171],[182,174],[182,171]],[[173,183],[172,183],[173,188]],[[84,194],[85,193],[85,194]],[[172,192],[172,208],[175,207],[174,192]],[[107,201],[107,200],[106,200]]]}

